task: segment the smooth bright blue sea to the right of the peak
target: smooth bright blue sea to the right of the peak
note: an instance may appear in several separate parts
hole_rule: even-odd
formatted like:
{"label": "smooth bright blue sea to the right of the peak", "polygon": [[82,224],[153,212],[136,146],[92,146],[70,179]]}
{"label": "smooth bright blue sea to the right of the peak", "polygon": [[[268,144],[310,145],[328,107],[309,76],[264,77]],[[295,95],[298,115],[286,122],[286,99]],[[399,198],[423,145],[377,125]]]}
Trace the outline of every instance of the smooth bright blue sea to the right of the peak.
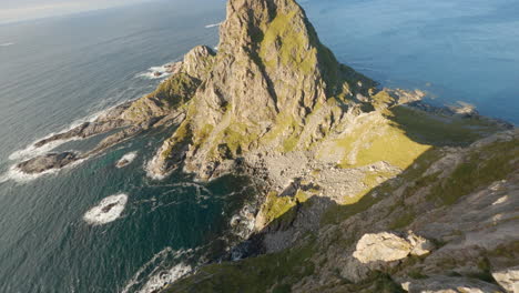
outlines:
{"label": "smooth bright blue sea to the right of the peak", "polygon": [[[322,41],[383,85],[519,123],[519,1],[307,0]],[[434,101],[432,101],[434,102]]]}

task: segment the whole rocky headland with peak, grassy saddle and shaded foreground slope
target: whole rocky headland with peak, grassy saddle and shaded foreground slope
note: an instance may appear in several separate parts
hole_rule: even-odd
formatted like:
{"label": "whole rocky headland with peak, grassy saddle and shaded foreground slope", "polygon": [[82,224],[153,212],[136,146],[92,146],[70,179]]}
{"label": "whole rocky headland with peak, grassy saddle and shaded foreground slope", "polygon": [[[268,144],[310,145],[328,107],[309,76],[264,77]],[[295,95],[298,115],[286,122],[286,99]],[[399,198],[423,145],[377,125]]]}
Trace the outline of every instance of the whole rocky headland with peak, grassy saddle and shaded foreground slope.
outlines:
{"label": "whole rocky headland with peak, grassy saddle and shaded foreground slope", "polygon": [[[352,44],[354,46],[354,44]],[[48,138],[109,135],[63,168],[172,129],[149,175],[248,174],[245,259],[163,292],[519,292],[519,131],[340,64],[294,0],[230,0],[218,51],[196,47],[139,100]]]}

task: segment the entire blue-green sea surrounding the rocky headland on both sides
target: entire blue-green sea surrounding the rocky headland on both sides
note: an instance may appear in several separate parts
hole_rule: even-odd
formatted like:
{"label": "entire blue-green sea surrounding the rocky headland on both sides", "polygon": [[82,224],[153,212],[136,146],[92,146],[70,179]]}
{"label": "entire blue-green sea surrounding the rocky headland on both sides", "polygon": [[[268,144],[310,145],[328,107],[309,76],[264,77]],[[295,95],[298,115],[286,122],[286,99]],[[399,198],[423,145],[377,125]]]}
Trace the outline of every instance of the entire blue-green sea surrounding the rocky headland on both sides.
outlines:
{"label": "entire blue-green sea surrounding the rocky headland on both sides", "polygon": [[[337,58],[383,85],[421,89],[519,123],[519,1],[302,2]],[[217,46],[223,0],[156,0],[0,26],[0,292],[151,292],[223,253],[230,220],[254,196],[245,179],[145,176],[172,130],[152,131],[40,178],[10,168],[30,145],[151,92],[154,67]],[[81,150],[99,139],[58,150]],[[129,166],[115,168],[136,152]],[[84,214],[125,194],[103,225]]]}

